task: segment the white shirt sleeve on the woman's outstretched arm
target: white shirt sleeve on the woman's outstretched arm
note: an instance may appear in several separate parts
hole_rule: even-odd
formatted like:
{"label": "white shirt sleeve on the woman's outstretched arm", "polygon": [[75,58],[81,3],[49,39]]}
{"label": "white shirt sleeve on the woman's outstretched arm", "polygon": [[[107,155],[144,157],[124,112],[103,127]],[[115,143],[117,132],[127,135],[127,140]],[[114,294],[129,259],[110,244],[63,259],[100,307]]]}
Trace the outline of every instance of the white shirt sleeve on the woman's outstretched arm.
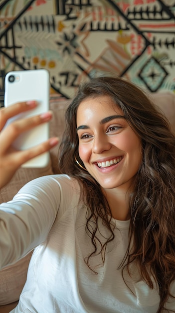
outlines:
{"label": "white shirt sleeve on the woman's outstretched arm", "polygon": [[36,178],[0,204],[0,269],[46,239],[61,200],[58,176]]}

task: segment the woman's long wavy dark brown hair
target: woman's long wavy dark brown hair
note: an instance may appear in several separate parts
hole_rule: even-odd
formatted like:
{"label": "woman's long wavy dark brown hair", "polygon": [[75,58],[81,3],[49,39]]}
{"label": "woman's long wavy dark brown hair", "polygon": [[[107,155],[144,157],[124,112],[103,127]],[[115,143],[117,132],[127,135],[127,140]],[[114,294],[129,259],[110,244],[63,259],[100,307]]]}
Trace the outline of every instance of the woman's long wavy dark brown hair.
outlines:
{"label": "woman's long wavy dark brown hair", "polygon": [[[126,266],[131,274],[130,264],[136,262],[141,278],[150,288],[153,288],[151,276],[154,277],[161,298],[157,313],[161,313],[169,296],[175,297],[170,291],[175,280],[175,135],[166,117],[131,82],[109,75],[92,78],[80,85],[67,108],[66,130],[59,149],[59,168],[83,186],[84,201],[88,205],[86,231],[94,247],[86,263],[90,267],[89,259],[98,253],[98,245],[104,263],[106,245],[114,239],[114,225],[109,219],[110,207],[99,183],[79,167],[74,158],[76,156],[83,166],[78,154],[77,108],[85,98],[103,95],[111,97],[122,109],[126,120],[141,138],[143,148],[143,160],[129,198],[130,240],[121,268]],[[99,219],[109,231],[104,244],[97,236]]]}

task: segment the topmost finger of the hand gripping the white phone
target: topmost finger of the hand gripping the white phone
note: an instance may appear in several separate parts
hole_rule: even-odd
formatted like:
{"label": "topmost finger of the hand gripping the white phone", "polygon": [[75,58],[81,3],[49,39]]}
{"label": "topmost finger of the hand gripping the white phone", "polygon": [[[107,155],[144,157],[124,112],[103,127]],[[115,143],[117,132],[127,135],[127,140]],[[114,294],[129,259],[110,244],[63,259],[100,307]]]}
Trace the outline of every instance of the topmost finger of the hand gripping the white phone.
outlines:
{"label": "topmost finger of the hand gripping the white phone", "polygon": [[6,121],[13,117],[14,115],[17,115],[19,113],[31,110],[32,108],[35,108],[37,106],[38,102],[35,100],[26,101],[26,102],[19,102],[12,105],[9,105],[8,107],[2,107],[0,109],[0,130],[5,125]]}

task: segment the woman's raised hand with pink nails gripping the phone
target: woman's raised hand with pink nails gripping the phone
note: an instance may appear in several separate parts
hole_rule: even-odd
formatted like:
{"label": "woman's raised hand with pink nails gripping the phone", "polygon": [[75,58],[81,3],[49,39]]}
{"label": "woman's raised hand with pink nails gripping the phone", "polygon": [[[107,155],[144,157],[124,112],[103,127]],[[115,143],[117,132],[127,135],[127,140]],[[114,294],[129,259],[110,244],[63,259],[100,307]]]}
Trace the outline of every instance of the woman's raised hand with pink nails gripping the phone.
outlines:
{"label": "woman's raised hand with pink nails gripping the phone", "polygon": [[31,158],[48,151],[58,143],[53,137],[30,149],[17,151],[12,147],[13,141],[23,131],[29,130],[41,123],[48,122],[52,113],[46,112],[28,118],[17,119],[5,128],[8,118],[37,106],[36,101],[20,102],[0,109],[0,188],[14,175],[17,168]]}

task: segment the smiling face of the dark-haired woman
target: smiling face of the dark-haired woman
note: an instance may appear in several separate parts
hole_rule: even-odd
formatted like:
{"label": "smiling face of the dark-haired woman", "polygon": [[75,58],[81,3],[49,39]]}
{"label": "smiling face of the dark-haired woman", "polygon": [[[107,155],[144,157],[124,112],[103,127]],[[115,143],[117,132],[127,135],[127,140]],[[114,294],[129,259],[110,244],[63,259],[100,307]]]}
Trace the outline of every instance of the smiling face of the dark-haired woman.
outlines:
{"label": "smiling face of the dark-haired woman", "polygon": [[131,185],[142,161],[142,146],[122,110],[108,96],[87,98],[77,110],[79,156],[105,189]]}

